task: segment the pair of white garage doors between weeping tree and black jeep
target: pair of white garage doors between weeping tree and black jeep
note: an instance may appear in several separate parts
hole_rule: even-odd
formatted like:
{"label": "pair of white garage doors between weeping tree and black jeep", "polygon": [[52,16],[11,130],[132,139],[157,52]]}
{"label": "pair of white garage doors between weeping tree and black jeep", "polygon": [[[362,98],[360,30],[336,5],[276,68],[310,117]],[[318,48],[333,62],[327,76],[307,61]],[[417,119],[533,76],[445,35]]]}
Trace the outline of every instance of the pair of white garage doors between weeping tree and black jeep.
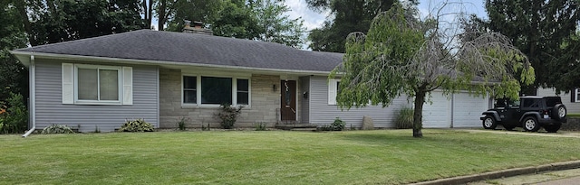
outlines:
{"label": "pair of white garage doors between weeping tree and black jeep", "polygon": [[474,97],[467,92],[447,97],[441,91],[433,91],[431,102],[423,106],[424,128],[478,127],[479,116],[490,105],[489,96]]}

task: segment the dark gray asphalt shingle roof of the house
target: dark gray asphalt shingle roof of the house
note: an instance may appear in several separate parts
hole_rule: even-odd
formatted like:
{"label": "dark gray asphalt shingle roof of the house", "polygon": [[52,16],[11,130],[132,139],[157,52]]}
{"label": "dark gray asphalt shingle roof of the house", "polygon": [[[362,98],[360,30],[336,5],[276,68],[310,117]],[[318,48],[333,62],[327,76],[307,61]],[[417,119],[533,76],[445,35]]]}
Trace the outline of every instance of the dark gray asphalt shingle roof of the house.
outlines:
{"label": "dark gray asphalt shingle roof of the house", "polygon": [[123,32],[16,51],[308,71],[331,71],[343,61],[342,53],[302,51],[273,42],[151,30]]}

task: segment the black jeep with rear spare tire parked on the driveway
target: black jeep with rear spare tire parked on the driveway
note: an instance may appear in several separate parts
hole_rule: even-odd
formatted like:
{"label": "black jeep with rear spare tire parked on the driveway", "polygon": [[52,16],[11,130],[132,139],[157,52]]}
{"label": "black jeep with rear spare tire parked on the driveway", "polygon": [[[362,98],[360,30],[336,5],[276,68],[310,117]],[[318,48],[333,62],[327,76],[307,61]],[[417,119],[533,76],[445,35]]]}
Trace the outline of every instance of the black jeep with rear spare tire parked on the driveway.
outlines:
{"label": "black jeep with rear spare tire parked on the driveway", "polygon": [[482,113],[485,129],[503,125],[506,130],[523,127],[536,132],[544,127],[548,133],[556,133],[566,122],[566,109],[560,97],[519,97],[519,100],[497,99],[493,109]]}

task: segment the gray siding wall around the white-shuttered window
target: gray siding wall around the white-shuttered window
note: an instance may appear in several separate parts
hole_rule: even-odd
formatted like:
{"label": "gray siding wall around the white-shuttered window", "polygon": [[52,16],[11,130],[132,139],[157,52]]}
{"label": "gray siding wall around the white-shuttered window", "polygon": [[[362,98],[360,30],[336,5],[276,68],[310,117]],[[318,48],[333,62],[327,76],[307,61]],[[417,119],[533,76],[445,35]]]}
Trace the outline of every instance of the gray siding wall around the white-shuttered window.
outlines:
{"label": "gray siding wall around the white-shuttered window", "polygon": [[78,127],[81,132],[93,132],[98,126],[102,132],[110,132],[120,128],[127,119],[138,118],[159,127],[157,67],[122,65],[133,68],[133,105],[63,105],[61,63],[58,60],[36,60],[36,129],[55,124]]}

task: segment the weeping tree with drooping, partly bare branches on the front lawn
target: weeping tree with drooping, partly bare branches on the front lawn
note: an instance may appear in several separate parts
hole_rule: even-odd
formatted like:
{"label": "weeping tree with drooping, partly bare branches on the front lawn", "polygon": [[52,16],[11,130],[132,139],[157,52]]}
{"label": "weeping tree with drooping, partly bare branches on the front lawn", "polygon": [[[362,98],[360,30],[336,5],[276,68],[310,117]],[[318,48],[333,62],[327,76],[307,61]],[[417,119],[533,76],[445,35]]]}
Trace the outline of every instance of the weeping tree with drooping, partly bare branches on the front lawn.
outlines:
{"label": "weeping tree with drooping, partly bare branches on the front lawn", "polygon": [[533,83],[534,69],[506,36],[458,29],[462,14],[440,14],[448,5],[420,21],[395,4],[372,20],[367,34],[351,33],[343,65],[329,77],[342,77],[338,106],[384,107],[401,95],[414,97],[413,137],[422,137],[423,104],[435,89],[517,98],[521,84]]}

